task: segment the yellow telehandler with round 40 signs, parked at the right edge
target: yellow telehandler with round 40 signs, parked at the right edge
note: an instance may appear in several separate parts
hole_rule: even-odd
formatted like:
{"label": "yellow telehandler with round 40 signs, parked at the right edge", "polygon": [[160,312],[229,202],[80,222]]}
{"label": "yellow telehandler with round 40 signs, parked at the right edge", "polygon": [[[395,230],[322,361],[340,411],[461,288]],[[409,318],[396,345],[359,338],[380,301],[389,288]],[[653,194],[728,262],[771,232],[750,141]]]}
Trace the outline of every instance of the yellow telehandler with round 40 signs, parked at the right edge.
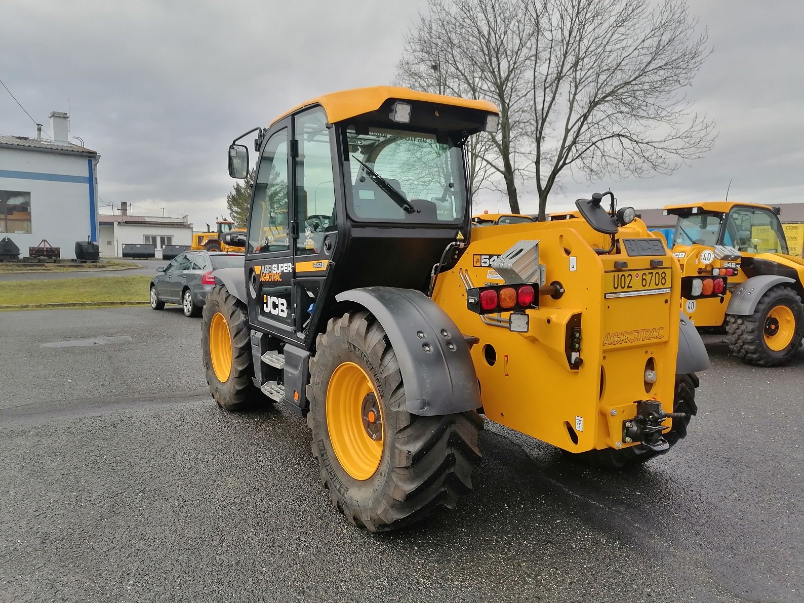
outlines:
{"label": "yellow telehandler with round 40 signs, parked at the right edge", "polygon": [[732,354],[773,367],[790,362],[804,335],[804,260],[788,255],[784,229],[766,205],[670,205],[679,216],[673,255],[682,309],[696,327],[725,326]]}

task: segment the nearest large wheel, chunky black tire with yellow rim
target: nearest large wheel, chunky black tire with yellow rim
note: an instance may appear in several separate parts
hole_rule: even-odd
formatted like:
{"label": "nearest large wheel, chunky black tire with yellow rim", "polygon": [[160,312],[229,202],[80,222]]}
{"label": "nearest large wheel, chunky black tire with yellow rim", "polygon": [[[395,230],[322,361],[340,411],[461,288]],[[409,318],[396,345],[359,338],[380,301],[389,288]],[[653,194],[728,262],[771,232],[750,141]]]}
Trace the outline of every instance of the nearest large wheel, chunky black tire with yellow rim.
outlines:
{"label": "nearest large wheel, chunky black tire with yellow rim", "polygon": [[480,461],[481,416],[405,410],[396,354],[367,312],[330,320],[316,348],[307,423],[338,511],[359,527],[386,531],[455,507]]}

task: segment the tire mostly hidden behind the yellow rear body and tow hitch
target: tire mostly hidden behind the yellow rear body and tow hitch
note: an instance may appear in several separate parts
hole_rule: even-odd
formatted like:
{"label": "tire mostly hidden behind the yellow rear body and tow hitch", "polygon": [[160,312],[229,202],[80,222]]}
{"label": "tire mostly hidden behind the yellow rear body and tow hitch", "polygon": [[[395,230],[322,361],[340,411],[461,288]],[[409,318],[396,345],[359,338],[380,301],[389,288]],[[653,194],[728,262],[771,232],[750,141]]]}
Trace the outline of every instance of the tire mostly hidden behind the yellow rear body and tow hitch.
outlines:
{"label": "tire mostly hidden behind the yellow rear body and tow hitch", "polygon": [[[687,425],[692,416],[698,414],[698,405],[695,404],[695,388],[699,386],[698,375],[676,375],[675,396],[673,412],[684,412],[687,417],[683,420],[674,419],[669,432],[664,439],[672,448],[679,440],[687,437]],[[665,451],[667,453],[668,451]],[[586,465],[606,470],[621,470],[630,466],[641,465],[645,461],[658,456],[659,453],[646,449],[644,446],[630,446],[621,450],[607,448],[603,450],[588,450],[587,452],[572,454],[573,458]]]}

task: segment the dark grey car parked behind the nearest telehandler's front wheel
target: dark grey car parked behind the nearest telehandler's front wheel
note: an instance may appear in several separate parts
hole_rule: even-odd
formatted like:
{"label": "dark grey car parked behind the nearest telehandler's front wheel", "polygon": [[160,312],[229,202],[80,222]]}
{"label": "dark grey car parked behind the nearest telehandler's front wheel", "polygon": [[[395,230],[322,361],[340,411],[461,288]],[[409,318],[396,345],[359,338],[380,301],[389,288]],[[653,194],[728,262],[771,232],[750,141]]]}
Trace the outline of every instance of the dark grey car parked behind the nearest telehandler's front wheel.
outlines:
{"label": "dark grey car parked behind the nearest telehandler's front wheel", "polygon": [[242,253],[191,251],[175,256],[170,264],[157,269],[150,282],[150,302],[154,310],[166,303],[181,304],[185,316],[200,316],[207,293],[215,286],[212,271],[243,268]]}

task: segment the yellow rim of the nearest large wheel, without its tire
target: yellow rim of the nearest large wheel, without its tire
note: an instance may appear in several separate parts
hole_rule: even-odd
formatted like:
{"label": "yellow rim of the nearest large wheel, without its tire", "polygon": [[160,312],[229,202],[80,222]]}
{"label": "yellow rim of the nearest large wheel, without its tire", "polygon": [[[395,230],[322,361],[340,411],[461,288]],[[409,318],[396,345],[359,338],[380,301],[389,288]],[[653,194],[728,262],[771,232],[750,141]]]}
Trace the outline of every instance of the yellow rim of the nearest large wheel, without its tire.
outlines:
{"label": "yellow rim of the nearest large wheel, without its tire", "polygon": [[355,363],[340,364],[330,377],[326,428],[347,474],[360,481],[371,478],[383,456],[384,417],[371,378]]}

